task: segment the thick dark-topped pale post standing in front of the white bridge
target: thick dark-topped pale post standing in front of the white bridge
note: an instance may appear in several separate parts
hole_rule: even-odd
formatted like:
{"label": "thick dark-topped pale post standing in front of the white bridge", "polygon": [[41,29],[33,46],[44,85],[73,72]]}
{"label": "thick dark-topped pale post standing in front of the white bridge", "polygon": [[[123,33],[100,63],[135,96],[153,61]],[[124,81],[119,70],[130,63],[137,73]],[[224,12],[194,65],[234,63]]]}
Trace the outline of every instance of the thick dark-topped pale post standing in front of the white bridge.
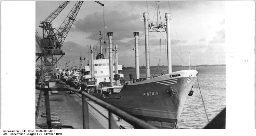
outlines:
{"label": "thick dark-topped pale post standing in front of the white bridge", "polygon": [[109,44],[109,81],[113,82],[113,50],[112,50],[112,37],[113,32],[108,32],[108,44]]}

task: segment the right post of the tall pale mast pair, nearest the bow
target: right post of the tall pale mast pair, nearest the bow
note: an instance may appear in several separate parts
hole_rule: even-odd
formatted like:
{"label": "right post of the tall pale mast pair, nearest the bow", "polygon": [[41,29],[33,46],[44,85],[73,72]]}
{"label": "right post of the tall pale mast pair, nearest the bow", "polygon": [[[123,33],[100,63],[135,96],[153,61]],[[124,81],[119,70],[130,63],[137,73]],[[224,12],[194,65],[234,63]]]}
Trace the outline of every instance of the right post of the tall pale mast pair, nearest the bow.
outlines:
{"label": "right post of the tall pale mast pair, nearest the bow", "polygon": [[166,39],[167,39],[167,61],[168,61],[168,73],[172,73],[172,55],[171,55],[171,14],[165,13],[166,20]]}

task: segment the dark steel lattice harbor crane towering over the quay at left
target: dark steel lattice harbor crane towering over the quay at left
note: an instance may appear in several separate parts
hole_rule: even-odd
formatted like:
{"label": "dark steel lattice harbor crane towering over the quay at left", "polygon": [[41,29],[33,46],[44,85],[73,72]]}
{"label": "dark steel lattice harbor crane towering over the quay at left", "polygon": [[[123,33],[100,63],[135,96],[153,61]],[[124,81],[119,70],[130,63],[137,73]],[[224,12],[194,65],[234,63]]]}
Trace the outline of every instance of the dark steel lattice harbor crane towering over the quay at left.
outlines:
{"label": "dark steel lattice harbor crane towering over the quay at left", "polygon": [[[60,58],[65,55],[65,52],[61,50],[62,44],[65,41],[73,22],[76,20],[76,15],[80,10],[81,5],[83,4],[83,1],[77,1],[58,30],[52,28],[52,21],[60,14],[60,12],[68,5],[69,2],[70,1],[63,2],[46,19],[44,19],[44,21],[40,22],[42,25],[39,27],[43,29],[43,38],[39,40],[39,36],[36,36],[36,42],[39,43],[41,48],[41,52],[36,53],[36,56],[38,56],[36,62],[40,58],[41,65],[36,67],[41,69],[41,81],[44,80],[44,73],[49,72],[51,69],[58,72],[54,65],[57,64]],[[36,33],[38,35],[38,32]],[[61,57],[59,57],[58,60],[55,59],[55,61],[53,61],[53,56]],[[49,61],[50,59],[52,59],[52,61]]]}

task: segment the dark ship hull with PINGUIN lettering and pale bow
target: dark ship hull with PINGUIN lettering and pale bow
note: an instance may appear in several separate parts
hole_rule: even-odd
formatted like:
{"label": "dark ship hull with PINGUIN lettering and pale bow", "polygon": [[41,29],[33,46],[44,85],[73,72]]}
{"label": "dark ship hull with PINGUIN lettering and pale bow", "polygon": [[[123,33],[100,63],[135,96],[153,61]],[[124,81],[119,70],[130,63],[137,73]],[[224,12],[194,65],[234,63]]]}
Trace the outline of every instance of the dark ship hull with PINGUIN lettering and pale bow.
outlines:
{"label": "dark ship hull with PINGUIN lettering and pale bow", "polygon": [[100,99],[158,128],[175,129],[196,76],[196,70],[173,72],[125,85],[115,97]]}

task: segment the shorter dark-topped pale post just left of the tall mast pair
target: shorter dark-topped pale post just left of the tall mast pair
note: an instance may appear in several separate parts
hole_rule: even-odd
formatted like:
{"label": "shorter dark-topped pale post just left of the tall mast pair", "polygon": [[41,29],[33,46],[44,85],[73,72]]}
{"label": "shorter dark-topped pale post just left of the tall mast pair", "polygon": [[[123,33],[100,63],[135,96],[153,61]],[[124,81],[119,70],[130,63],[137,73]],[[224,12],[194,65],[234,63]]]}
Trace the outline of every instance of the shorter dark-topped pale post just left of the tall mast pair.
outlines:
{"label": "shorter dark-topped pale post just left of the tall mast pair", "polygon": [[135,68],[136,68],[136,79],[140,79],[140,64],[139,64],[139,32],[133,33],[134,39],[135,39]]}

